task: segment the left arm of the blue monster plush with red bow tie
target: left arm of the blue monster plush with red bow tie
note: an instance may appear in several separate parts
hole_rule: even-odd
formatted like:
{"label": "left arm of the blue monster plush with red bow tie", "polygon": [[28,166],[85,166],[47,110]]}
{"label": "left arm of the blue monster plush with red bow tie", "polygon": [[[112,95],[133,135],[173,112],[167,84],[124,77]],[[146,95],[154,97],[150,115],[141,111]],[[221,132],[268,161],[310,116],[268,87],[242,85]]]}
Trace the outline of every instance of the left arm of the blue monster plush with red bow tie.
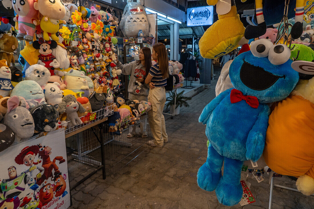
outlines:
{"label": "left arm of the blue monster plush with red bow tie", "polygon": [[202,111],[202,114],[198,118],[198,122],[206,124],[209,116],[212,114],[216,106],[228,95],[230,94],[232,88],[225,90],[216,96],[211,102],[206,105]]}

